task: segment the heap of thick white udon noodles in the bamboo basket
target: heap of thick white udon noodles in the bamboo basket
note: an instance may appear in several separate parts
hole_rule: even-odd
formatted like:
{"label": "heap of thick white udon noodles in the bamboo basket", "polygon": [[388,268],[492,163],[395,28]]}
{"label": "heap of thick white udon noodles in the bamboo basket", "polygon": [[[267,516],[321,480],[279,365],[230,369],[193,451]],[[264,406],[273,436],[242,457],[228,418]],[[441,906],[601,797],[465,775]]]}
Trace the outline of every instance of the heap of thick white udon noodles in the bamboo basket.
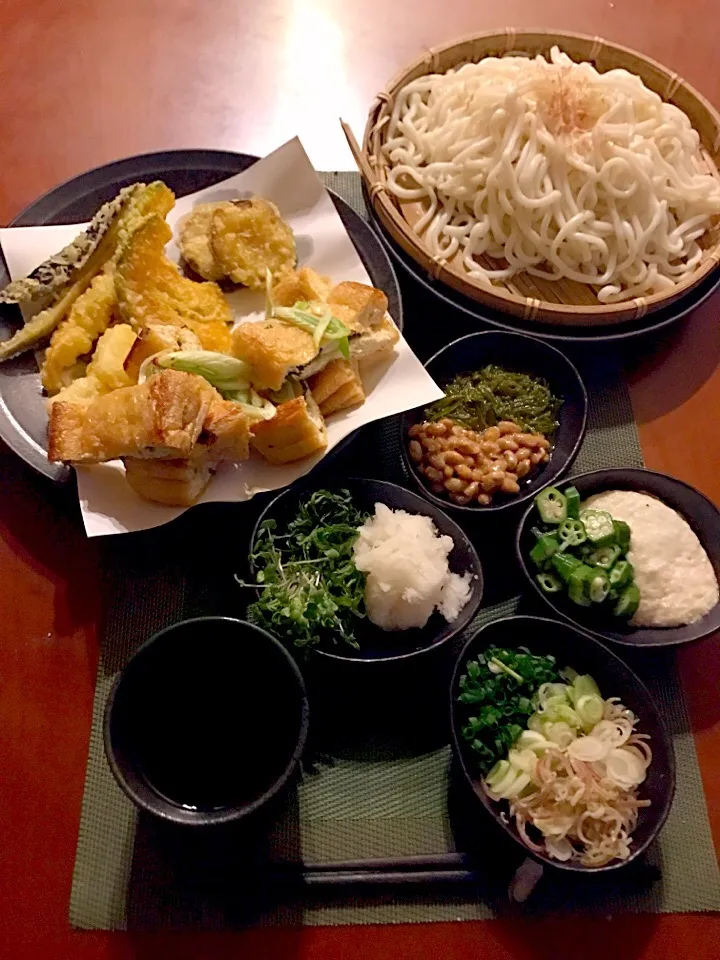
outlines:
{"label": "heap of thick white udon noodles in the bamboo basket", "polygon": [[427,207],[414,229],[436,258],[459,255],[488,285],[523,272],[592,284],[612,303],[700,263],[720,182],[699,147],[639,77],[554,47],[550,62],[488,57],[408,83],[383,152],[390,191]]}

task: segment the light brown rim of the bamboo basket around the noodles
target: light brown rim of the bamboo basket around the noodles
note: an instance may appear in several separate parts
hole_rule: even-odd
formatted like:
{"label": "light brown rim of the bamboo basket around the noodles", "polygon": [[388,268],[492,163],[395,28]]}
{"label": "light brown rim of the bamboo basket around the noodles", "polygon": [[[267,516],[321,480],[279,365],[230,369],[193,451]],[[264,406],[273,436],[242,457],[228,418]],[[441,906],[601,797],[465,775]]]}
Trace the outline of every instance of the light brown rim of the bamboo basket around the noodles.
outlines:
{"label": "light brown rim of the bamboo basket around the noodles", "polygon": [[[490,52],[488,48],[490,48],[491,45],[497,49]],[[588,52],[584,53],[573,49],[573,47],[577,45],[588,46]],[[504,52],[501,52],[503,46]],[[503,56],[513,52],[546,52],[549,51],[552,46],[560,47],[561,50],[576,62],[581,60],[593,62],[601,72],[620,66],[621,64],[616,62],[618,59],[622,61],[624,57],[629,58],[633,66],[625,65],[625,69],[640,76],[643,82],[650,87],[650,89],[653,89],[665,102],[674,103],[675,106],[678,106],[680,110],[687,114],[687,108],[676,103],[674,99],[678,93],[681,93],[681,99],[687,100],[693,105],[693,114],[704,115],[705,123],[703,126],[705,129],[702,130],[699,129],[694,116],[691,116],[690,119],[694,129],[697,130],[700,136],[702,155],[708,163],[710,171],[720,179],[720,174],[718,173],[718,165],[720,164],[720,112],[718,112],[712,103],[691,84],[680,77],[678,73],[671,71],[668,67],[665,67],[652,57],[648,57],[631,47],[582,33],[543,29],[515,29],[508,27],[502,31],[492,30],[470,34],[460,39],[431,47],[421,56],[416,57],[415,60],[406,65],[402,70],[398,71],[389,81],[385,89],[376,95],[368,112],[363,133],[362,148],[358,146],[347,124],[343,123],[343,129],[360,173],[365,181],[370,202],[378,214],[382,225],[393,240],[436,280],[448,284],[480,303],[509,311],[516,316],[522,316],[528,320],[542,320],[568,325],[573,321],[577,322],[580,317],[583,318],[582,322],[587,324],[620,323],[639,319],[650,312],[668,306],[673,301],[680,299],[685,293],[720,267],[720,220],[716,221],[713,225],[715,237],[713,242],[703,250],[702,259],[696,269],[690,276],[676,284],[672,290],[612,304],[599,304],[597,302],[577,303],[571,301],[556,303],[546,298],[541,299],[540,297],[514,292],[504,286],[493,285],[489,288],[469,277],[462,269],[456,267],[454,264],[447,263],[441,256],[434,255],[426,246],[423,238],[415,234],[409,222],[400,212],[395,199],[392,198],[385,187],[385,170],[379,160],[375,141],[378,141],[378,143],[381,142],[380,136],[382,127],[384,126],[383,118],[389,116],[395,95],[410,79],[422,76],[425,73],[447,70],[450,69],[451,66],[459,66],[462,63],[476,63],[485,56]],[[470,49],[457,56],[453,64],[441,67],[444,55],[452,54],[454,51],[463,47],[469,47]],[[610,63],[601,62],[603,54],[606,56],[609,55]],[[642,67],[645,68],[644,71],[638,72],[637,66],[635,66],[636,64],[642,65]],[[655,74],[654,82],[652,76],[648,77],[648,74]],[[658,89],[658,79],[665,82],[664,91]],[[708,122],[710,132],[708,132],[707,129]],[[528,285],[531,285],[532,278],[527,276],[527,280]],[[555,281],[545,282],[554,283]],[[578,286],[581,285],[578,284]],[[584,286],[587,287],[588,291],[594,293],[592,285],[586,284]],[[540,293],[541,291],[537,292]],[[559,294],[561,288],[556,288],[554,292]]]}

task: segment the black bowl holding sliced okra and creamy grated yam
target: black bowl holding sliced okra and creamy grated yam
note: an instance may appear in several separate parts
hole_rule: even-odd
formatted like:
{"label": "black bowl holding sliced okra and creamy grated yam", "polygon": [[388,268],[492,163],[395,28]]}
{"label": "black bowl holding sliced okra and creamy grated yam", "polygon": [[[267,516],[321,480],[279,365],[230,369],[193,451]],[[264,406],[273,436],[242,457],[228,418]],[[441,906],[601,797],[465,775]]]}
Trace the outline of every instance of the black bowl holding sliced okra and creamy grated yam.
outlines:
{"label": "black bowl holding sliced okra and creamy grated yam", "polygon": [[[720,580],[720,511],[694,487],[675,477],[652,470],[617,468],[613,470],[593,470],[570,477],[563,486],[576,486],[583,499],[603,490],[636,490],[657,497],[663,503],[676,510],[690,524],[704,550],[707,552]],[[674,646],[690,643],[710,636],[720,630],[720,603],[697,623],[685,627],[633,627],[619,622],[611,614],[599,613],[592,608],[578,607],[564,594],[544,593],[535,579],[536,570],[528,559],[535,538],[531,530],[537,522],[534,504],[523,514],[515,541],[517,558],[533,590],[551,608],[566,620],[576,623],[583,630],[600,640],[623,643],[634,647]]]}

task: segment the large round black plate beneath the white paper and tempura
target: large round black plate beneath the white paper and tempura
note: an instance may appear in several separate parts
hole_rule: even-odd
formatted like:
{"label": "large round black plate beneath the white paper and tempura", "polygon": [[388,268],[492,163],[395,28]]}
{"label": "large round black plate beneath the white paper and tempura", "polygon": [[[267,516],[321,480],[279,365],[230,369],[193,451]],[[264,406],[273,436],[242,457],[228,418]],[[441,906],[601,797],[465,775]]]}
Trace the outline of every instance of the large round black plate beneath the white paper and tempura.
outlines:
{"label": "large round black plate beneath the white paper and tempura", "polygon": [[[164,180],[179,197],[211,187],[252,166],[257,157],[224,150],[169,150],[128,157],[97,167],[54,187],[26,207],[11,226],[82,223],[112,199],[122,187],[138,180]],[[370,279],[384,290],[388,309],[402,330],[402,301],[392,263],[376,234],[352,207],[329,190],[345,229]],[[10,280],[0,251],[0,287]],[[0,321],[0,336],[10,330]],[[350,434],[333,448],[344,449]],[[31,467],[51,480],[71,476],[69,467],[47,459],[47,412],[41,393],[40,374],[32,353],[0,364],[0,438]]]}

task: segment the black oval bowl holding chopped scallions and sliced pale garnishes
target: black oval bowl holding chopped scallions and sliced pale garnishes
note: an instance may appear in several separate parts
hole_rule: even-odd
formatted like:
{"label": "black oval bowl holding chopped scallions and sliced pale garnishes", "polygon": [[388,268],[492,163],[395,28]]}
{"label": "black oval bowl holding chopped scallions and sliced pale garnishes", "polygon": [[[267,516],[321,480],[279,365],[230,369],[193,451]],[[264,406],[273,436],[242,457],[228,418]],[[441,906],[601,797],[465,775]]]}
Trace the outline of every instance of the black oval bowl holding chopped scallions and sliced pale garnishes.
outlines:
{"label": "black oval bowl holding chopped scallions and sliced pale garnishes", "polygon": [[[627,860],[617,860],[604,867],[585,867],[562,862],[530,850],[520,837],[514,821],[504,818],[506,804],[491,800],[482,786],[475,761],[475,752],[462,736],[462,725],[472,714],[472,707],[458,702],[460,677],[465,665],[490,646],[527,647],[534,654],[551,654],[558,666],[572,667],[578,673],[589,673],[597,681],[605,697],[620,697],[638,717],[638,732],[650,734],[653,752],[648,775],[640,788],[640,796],[651,805],[640,811],[633,833],[632,852]],[[660,712],[642,680],[623,661],[597,640],[566,623],[544,617],[506,617],[487,624],[463,648],[455,667],[450,688],[452,746],[463,775],[485,810],[495,823],[520,844],[527,856],[558,870],[573,873],[605,873],[618,870],[637,859],[655,840],[670,812],[675,793],[675,756],[672,742]]]}

